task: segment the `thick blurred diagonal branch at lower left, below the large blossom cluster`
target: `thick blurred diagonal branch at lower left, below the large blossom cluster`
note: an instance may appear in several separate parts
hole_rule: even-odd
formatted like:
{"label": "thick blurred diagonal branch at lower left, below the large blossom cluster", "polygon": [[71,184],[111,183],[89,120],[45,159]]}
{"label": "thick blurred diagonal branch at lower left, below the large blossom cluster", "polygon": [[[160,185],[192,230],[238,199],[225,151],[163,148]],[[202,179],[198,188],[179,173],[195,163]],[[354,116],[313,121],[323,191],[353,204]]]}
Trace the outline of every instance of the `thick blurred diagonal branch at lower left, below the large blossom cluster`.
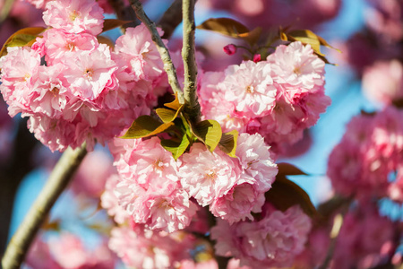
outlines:
{"label": "thick blurred diagonal branch at lower left, below the large blossom cluster", "polygon": [[25,216],[8,244],[2,259],[3,269],[20,268],[31,242],[35,238],[42,222],[47,217],[47,213],[49,213],[58,196],[62,194],[64,188],[67,187],[71,178],[73,178],[74,172],[80,166],[86,153],[85,143],[81,145],[81,148],[75,150],[68,148],[64,152],[47,179],[47,184],[30,208],[30,212]]}

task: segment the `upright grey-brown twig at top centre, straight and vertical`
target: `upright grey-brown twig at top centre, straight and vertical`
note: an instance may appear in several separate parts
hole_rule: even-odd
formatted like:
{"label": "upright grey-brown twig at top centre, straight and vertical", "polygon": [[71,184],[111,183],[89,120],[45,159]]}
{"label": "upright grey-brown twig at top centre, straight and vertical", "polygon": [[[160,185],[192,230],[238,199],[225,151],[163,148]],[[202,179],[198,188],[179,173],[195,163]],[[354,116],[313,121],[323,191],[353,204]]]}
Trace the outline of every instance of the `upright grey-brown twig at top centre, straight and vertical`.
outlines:
{"label": "upright grey-brown twig at top centre, straight and vertical", "polygon": [[200,117],[200,104],[197,101],[197,65],[194,52],[194,0],[183,0],[182,12],[184,20],[184,44],[182,58],[184,59],[184,100],[185,112],[191,121],[198,122]]}

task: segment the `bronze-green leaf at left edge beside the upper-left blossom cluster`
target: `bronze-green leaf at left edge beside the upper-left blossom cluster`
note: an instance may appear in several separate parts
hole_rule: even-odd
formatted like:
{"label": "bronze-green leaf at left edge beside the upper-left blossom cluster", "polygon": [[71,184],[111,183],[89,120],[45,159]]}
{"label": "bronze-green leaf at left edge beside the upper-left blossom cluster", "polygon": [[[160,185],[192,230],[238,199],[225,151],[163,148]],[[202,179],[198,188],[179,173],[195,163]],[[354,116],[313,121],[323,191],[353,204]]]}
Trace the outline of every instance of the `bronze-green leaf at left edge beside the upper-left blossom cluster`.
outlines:
{"label": "bronze-green leaf at left edge beside the upper-left blossom cluster", "polygon": [[0,56],[7,54],[8,47],[31,46],[35,39],[39,37],[39,34],[44,30],[46,30],[44,27],[29,27],[17,30],[5,41],[3,48],[0,50]]}

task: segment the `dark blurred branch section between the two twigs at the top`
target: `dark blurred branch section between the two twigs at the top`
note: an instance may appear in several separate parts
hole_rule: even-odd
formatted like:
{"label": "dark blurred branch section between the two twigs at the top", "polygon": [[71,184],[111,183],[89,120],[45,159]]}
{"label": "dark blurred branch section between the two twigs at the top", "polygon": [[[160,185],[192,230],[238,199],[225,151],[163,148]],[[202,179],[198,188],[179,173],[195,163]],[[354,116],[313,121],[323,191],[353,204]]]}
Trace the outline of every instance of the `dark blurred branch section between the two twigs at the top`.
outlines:
{"label": "dark blurred branch section between the two twigs at the top", "polygon": [[175,0],[162,15],[157,25],[164,31],[163,39],[169,39],[182,22],[182,0]]}

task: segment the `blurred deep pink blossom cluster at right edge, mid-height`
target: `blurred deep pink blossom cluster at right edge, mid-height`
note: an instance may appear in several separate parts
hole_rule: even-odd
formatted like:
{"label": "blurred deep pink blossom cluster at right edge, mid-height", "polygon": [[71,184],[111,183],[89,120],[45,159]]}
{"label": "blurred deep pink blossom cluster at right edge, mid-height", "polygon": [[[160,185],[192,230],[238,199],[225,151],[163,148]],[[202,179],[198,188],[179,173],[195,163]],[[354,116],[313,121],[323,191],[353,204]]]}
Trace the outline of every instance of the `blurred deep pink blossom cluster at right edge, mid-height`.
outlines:
{"label": "blurred deep pink blossom cluster at right edge, mid-height", "polygon": [[402,117],[401,109],[388,107],[351,120],[330,153],[328,176],[337,193],[365,198],[389,192],[393,199],[403,201]]}

